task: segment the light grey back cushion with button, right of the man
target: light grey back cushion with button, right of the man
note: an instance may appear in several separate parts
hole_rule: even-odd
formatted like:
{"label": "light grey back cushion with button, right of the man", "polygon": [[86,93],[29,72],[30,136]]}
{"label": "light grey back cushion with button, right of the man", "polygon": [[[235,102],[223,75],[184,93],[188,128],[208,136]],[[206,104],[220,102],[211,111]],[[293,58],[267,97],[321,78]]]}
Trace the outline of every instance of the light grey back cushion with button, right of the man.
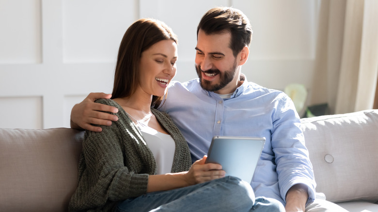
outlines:
{"label": "light grey back cushion with button, right of the man", "polygon": [[378,110],[301,122],[316,191],[333,202],[378,201]]}

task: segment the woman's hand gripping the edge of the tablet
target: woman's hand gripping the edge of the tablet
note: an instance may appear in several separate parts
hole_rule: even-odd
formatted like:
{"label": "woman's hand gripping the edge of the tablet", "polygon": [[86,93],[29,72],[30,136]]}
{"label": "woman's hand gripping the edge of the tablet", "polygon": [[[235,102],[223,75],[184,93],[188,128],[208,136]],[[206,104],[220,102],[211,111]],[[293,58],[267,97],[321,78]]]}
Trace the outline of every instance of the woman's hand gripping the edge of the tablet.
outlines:
{"label": "woman's hand gripping the edge of the tablet", "polygon": [[225,176],[226,172],[222,170],[221,165],[211,163],[205,164],[206,158],[207,155],[194,162],[189,171],[184,174],[184,179],[188,185],[207,182]]}

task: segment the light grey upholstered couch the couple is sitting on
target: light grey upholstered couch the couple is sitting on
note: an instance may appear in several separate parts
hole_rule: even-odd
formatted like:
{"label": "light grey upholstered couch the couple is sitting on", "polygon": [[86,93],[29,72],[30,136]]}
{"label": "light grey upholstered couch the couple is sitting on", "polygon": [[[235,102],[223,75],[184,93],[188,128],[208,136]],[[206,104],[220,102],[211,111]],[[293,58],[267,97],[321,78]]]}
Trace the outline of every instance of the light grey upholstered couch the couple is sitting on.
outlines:
{"label": "light grey upholstered couch the couple is sitting on", "polygon": [[[317,192],[350,212],[378,212],[378,110],[301,120]],[[0,129],[0,212],[64,212],[83,132]]]}

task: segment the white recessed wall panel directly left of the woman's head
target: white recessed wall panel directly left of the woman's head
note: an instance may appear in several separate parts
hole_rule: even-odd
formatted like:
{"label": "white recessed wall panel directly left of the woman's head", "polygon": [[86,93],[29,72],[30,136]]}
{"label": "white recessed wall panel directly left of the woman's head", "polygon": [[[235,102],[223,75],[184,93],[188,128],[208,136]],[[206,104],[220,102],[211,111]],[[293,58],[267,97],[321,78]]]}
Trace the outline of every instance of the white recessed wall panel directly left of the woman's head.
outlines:
{"label": "white recessed wall panel directly left of the woman's head", "polygon": [[134,1],[64,0],[63,62],[115,62],[135,8]]}

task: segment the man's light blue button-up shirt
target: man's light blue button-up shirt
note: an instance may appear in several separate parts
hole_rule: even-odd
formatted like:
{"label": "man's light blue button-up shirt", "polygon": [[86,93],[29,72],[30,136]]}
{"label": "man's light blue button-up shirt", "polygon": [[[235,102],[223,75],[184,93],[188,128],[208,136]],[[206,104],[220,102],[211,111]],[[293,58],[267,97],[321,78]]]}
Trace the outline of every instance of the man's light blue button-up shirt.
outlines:
{"label": "man's light blue button-up shirt", "polygon": [[287,190],[303,183],[308,186],[309,201],[315,199],[314,173],[299,116],[284,92],[244,78],[230,98],[222,99],[203,90],[197,78],[171,82],[161,110],[187,139],[193,162],[207,154],[213,136],[265,137],[251,182],[255,196],[275,198],[285,205]]}

